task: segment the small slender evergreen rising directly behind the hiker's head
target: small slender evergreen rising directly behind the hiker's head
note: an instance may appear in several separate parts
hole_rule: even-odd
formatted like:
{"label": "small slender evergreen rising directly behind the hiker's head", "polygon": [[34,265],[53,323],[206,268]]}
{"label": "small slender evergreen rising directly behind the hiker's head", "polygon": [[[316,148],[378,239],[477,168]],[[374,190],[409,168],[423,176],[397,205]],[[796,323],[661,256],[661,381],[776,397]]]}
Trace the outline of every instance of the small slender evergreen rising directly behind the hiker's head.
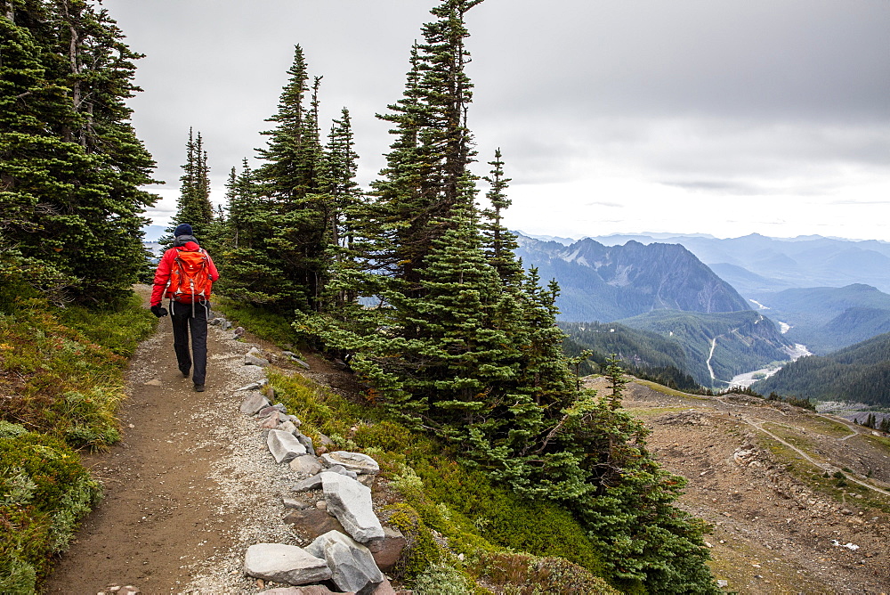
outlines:
{"label": "small slender evergreen rising directly behind the hiker's head", "polygon": [[185,143],[186,159],[180,177],[180,194],[174,224],[166,229],[170,238],[161,243],[172,242],[172,234],[178,224],[190,224],[198,240],[208,238],[214,223],[214,206],[210,202],[210,167],[207,166],[207,151],[201,133],[197,137],[189,128],[189,141]]}

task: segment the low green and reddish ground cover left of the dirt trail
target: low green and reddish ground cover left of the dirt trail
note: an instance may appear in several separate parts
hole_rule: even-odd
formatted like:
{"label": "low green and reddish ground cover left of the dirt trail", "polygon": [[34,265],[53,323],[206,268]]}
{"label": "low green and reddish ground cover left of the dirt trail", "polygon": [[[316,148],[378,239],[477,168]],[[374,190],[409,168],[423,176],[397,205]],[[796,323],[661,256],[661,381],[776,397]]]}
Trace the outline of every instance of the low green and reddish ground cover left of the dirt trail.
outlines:
{"label": "low green and reddish ground cover left of the dirt trail", "polygon": [[61,309],[0,291],[0,592],[35,592],[99,501],[76,449],[119,439],[127,358],[155,325],[136,297]]}

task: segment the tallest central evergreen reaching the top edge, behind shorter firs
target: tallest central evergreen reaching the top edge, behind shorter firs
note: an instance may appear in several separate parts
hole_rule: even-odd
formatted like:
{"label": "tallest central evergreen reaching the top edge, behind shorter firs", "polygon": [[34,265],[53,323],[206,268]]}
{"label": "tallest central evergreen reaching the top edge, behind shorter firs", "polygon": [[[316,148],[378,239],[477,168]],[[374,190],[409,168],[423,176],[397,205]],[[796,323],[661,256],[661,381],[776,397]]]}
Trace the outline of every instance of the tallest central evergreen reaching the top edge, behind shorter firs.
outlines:
{"label": "tallest central evergreen reaching the top edge, behind shorter firs", "polygon": [[411,52],[411,69],[400,102],[380,116],[396,127],[381,179],[372,184],[378,200],[379,261],[417,294],[419,269],[445,232],[451,210],[472,205],[474,151],[466,127],[472,88],[465,74],[469,36],[464,15],[481,0],[446,0],[431,11],[425,44]]}

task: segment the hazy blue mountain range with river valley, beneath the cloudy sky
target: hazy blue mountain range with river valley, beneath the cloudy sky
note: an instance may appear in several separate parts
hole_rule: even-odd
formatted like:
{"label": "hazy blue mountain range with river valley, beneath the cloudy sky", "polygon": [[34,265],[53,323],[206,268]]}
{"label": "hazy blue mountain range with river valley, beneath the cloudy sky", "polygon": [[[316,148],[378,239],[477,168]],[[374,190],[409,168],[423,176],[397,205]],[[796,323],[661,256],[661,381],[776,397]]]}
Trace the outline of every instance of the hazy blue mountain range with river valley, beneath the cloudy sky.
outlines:
{"label": "hazy blue mountain range with river valley, beneath the cloudy sky", "polygon": [[[797,344],[824,355],[848,346],[855,350],[859,342],[890,332],[890,295],[872,284],[843,284],[890,278],[890,244],[884,242],[756,234],[733,240],[647,235],[518,240],[523,265],[537,267],[543,280],[554,278],[561,286],[557,306],[571,349],[618,348],[605,353],[617,353],[640,370],[677,369],[706,387],[787,361],[800,353]],[[727,262],[705,265],[693,251]],[[881,268],[885,262],[887,272]],[[797,287],[819,281],[837,286]],[[666,356],[653,355],[659,351]],[[803,365],[813,363],[797,364],[798,369]],[[811,389],[789,394],[815,395]]]}

